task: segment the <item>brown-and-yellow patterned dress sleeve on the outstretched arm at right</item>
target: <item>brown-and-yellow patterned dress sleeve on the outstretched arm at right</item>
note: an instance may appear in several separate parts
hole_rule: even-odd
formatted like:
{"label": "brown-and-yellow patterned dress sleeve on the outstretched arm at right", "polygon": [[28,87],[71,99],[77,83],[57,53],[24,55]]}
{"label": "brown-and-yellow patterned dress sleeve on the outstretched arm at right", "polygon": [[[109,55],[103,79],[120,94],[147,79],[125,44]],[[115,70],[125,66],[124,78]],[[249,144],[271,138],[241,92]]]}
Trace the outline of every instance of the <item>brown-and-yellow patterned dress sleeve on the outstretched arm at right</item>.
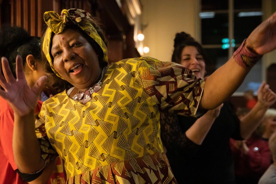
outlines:
{"label": "brown-and-yellow patterned dress sleeve on the outstretched arm at right", "polygon": [[146,92],[157,103],[161,112],[199,117],[197,112],[205,80],[182,65],[141,57],[137,72]]}

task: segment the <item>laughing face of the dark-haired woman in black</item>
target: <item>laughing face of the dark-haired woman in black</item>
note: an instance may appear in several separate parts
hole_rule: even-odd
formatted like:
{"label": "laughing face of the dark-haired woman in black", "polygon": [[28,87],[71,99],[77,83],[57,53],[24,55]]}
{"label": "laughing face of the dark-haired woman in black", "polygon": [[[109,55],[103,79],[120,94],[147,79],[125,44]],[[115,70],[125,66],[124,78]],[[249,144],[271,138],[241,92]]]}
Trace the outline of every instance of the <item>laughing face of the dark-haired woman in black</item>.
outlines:
{"label": "laughing face of the dark-haired woman in black", "polygon": [[203,78],[205,75],[205,62],[201,54],[194,46],[186,46],[181,53],[180,64],[192,70],[196,78]]}

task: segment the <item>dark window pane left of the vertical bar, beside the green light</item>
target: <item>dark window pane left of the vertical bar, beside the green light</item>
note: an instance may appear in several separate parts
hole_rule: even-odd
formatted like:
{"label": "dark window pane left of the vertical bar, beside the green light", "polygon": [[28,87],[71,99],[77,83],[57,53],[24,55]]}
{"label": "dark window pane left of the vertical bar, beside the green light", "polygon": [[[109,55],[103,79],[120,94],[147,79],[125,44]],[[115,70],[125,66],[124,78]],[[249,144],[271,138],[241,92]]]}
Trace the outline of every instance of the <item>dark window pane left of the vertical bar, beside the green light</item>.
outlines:
{"label": "dark window pane left of the vertical bar, beside the green light", "polygon": [[201,19],[202,44],[222,44],[222,38],[228,38],[228,14]]}

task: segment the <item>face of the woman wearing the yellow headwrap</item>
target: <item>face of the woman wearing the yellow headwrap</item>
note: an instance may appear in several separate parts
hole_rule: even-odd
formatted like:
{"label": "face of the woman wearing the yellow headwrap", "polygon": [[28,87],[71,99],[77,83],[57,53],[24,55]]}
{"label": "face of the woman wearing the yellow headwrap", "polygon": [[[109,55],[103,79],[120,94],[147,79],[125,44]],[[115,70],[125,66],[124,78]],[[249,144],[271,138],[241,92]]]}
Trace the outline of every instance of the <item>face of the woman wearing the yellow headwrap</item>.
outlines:
{"label": "face of the woman wearing the yellow headwrap", "polygon": [[78,89],[88,89],[100,76],[98,55],[77,31],[66,29],[53,37],[51,54],[54,68]]}

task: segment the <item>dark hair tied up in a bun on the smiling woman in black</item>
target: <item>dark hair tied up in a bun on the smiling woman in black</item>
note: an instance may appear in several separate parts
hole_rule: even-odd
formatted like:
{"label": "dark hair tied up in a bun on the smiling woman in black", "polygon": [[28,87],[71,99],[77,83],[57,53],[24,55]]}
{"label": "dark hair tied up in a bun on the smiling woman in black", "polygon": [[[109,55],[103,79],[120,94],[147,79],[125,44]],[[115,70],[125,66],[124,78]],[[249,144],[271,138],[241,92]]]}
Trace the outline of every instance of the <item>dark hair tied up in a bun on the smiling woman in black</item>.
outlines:
{"label": "dark hair tied up in a bun on the smiling woman in black", "polygon": [[186,46],[194,46],[198,50],[199,54],[202,55],[204,62],[209,62],[209,59],[207,58],[201,44],[195,41],[195,39],[186,32],[176,33],[174,38],[174,50],[171,61],[180,63],[182,50]]}

